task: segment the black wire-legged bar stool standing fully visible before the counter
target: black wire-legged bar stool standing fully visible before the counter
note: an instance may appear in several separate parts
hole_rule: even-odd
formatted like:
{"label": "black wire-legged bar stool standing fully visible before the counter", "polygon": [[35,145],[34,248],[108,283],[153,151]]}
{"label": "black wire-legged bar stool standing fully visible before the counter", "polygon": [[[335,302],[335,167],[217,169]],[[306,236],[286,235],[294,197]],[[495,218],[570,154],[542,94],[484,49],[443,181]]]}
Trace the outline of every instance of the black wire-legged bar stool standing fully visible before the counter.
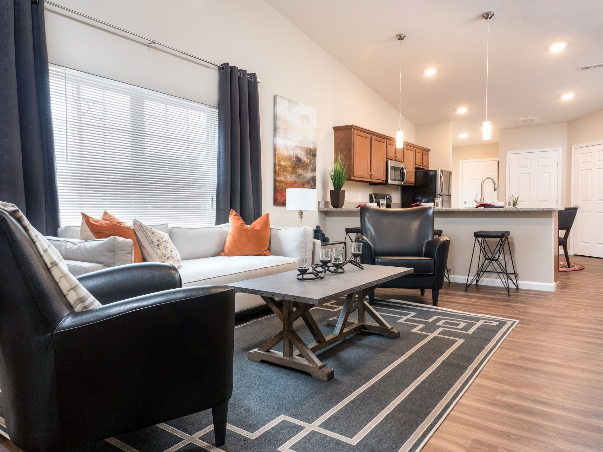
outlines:
{"label": "black wire-legged bar stool standing fully visible before the counter", "polygon": [[[476,231],[473,232],[475,241],[473,242],[473,252],[471,253],[471,262],[469,263],[469,273],[467,273],[467,284],[465,285],[465,291],[469,290],[470,285],[479,284],[479,280],[484,276],[484,273],[496,273],[503,287],[507,290],[507,295],[511,296],[511,283],[516,289],[519,288],[517,285],[517,273],[515,271],[515,264],[513,263],[513,254],[511,253],[511,246],[509,244],[509,231]],[[488,242],[488,238],[497,238],[496,243]],[[471,282],[469,282],[469,276],[471,275],[471,266],[473,264],[473,255],[475,254],[475,245],[479,245],[478,255],[478,271],[473,276]],[[507,256],[505,253],[505,245],[511,258],[512,272],[507,270]],[[484,261],[482,262],[482,257]],[[493,270],[488,270],[492,266]]]}

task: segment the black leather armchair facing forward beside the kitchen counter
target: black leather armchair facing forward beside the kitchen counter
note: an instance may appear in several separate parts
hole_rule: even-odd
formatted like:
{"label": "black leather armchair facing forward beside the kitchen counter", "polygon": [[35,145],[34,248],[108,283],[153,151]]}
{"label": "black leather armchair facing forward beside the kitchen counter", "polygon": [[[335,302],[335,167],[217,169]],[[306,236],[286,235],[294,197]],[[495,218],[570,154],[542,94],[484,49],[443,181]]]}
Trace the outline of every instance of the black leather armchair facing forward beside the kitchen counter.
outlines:
{"label": "black leather armchair facing forward beside the kitchen counter", "polygon": [[[411,267],[414,272],[385,282],[381,287],[431,289],[434,306],[444,285],[450,239],[434,237],[434,209],[360,208],[362,264]],[[374,291],[368,295],[373,302]]]}

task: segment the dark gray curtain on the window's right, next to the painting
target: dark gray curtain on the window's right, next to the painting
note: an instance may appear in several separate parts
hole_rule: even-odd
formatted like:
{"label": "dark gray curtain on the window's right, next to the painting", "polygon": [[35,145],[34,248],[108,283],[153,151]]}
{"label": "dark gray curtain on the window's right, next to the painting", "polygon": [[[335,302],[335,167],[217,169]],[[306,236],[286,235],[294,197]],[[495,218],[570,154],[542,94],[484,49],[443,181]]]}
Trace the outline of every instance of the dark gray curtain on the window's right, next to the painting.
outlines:
{"label": "dark gray curtain on the window's right, next to the painting", "polygon": [[223,67],[218,69],[216,224],[228,223],[230,209],[251,224],[262,216],[257,76],[229,63]]}

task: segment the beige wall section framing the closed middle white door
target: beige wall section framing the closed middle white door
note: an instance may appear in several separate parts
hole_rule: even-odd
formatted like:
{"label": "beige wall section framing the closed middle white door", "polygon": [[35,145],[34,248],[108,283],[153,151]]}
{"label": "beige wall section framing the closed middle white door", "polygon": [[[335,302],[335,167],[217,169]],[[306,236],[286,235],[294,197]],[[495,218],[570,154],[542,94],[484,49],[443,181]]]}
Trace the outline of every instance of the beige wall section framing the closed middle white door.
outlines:
{"label": "beige wall section framing the closed middle white door", "polygon": [[[518,127],[500,130],[499,138],[499,191],[500,201],[507,196],[507,151],[522,151],[543,148],[561,148],[560,164],[567,160],[567,123],[546,126]],[[561,200],[566,199],[566,171],[561,168]],[[562,205],[563,207],[563,205]]]}

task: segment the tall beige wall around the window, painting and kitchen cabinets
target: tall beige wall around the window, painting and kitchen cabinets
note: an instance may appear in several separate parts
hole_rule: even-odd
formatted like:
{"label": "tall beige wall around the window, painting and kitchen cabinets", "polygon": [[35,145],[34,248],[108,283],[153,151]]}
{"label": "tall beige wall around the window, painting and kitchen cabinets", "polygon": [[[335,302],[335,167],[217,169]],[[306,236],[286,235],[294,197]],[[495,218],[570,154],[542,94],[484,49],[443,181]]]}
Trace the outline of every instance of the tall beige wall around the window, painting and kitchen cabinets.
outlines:
{"label": "tall beige wall around the window, painting and kitchen cabinets", "polygon": [[[262,202],[276,226],[297,224],[297,212],[273,206],[274,95],[318,110],[317,188],[326,200],[327,170],[333,157],[333,126],[358,126],[395,136],[398,113],[358,77],[303,34],[263,0],[55,0],[66,7],[180,48],[204,59],[229,62],[257,72],[262,140]],[[124,39],[68,18],[46,6],[49,61],[186,99],[216,105],[217,69],[191,62],[147,43]],[[414,142],[414,126],[402,117],[402,129]],[[348,182],[349,200],[364,202],[368,184]],[[399,190],[391,191],[399,200]],[[308,226],[324,215],[306,212]]]}

